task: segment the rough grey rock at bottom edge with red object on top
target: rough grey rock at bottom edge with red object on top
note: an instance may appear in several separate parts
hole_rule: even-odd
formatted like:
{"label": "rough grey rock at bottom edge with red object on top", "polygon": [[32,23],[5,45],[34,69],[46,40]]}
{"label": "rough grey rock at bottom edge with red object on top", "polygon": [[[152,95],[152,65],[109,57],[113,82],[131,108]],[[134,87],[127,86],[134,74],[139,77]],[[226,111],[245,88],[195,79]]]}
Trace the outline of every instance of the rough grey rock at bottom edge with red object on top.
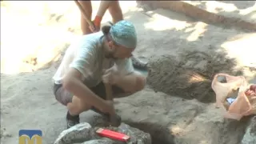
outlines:
{"label": "rough grey rock at bottom edge with red object on top", "polygon": [[[97,119],[95,119],[97,120]],[[71,127],[70,129],[62,131],[58,136],[54,144],[71,144],[83,142],[83,144],[123,144],[124,142],[114,141],[110,138],[102,138],[96,134],[96,130],[100,127],[96,126],[92,128],[89,123],[80,123],[76,126]],[[141,130],[130,127],[122,123],[118,127],[105,127],[108,130],[114,130],[127,134],[130,136],[130,140],[126,143],[138,143],[138,144],[151,144],[150,134],[144,133]]]}

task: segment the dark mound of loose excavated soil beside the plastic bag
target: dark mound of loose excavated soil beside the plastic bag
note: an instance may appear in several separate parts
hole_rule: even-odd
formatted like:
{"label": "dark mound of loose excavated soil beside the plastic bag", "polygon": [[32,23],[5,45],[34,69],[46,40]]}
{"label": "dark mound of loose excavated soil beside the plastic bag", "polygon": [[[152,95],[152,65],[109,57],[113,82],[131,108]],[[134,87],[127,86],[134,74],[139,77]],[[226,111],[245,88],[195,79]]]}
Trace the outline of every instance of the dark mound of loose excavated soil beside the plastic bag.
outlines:
{"label": "dark mound of loose excavated soil beside the plastic bag", "polygon": [[215,102],[211,82],[214,74],[242,74],[233,70],[234,59],[224,54],[208,54],[200,51],[184,51],[176,57],[163,55],[151,58],[147,83],[156,91],[177,95],[181,98],[196,98],[199,102]]}

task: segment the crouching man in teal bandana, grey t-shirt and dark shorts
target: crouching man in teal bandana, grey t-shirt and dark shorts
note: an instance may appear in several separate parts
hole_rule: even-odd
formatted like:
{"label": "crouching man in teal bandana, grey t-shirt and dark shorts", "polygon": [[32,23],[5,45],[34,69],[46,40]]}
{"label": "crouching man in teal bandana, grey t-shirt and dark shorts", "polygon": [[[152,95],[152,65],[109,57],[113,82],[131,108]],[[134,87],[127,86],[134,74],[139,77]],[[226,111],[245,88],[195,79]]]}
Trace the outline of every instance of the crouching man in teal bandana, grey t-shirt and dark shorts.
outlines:
{"label": "crouching man in teal bandana, grey t-shirt and dark shorts", "polygon": [[79,114],[92,108],[115,115],[103,82],[112,85],[114,98],[144,88],[146,78],[134,71],[130,60],[136,45],[134,25],[125,20],[83,35],[70,45],[53,77],[55,98],[68,109],[67,128],[78,124]]}

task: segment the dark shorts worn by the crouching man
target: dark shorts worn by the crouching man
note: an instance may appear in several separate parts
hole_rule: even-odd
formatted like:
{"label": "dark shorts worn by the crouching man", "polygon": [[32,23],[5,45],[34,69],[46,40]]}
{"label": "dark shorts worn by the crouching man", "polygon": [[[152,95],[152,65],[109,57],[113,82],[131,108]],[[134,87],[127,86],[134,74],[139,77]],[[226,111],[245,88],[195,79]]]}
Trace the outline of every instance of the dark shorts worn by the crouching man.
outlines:
{"label": "dark shorts worn by the crouching man", "polygon": [[[98,95],[102,99],[106,99],[106,90],[103,82],[100,82],[97,86],[91,87],[90,90],[94,92],[94,94]],[[122,94],[124,90],[119,88],[118,86],[112,86],[113,95]],[[54,96],[58,102],[62,103],[62,105],[66,106],[67,103],[72,102],[73,94],[69,91],[65,90],[62,84],[54,84]]]}

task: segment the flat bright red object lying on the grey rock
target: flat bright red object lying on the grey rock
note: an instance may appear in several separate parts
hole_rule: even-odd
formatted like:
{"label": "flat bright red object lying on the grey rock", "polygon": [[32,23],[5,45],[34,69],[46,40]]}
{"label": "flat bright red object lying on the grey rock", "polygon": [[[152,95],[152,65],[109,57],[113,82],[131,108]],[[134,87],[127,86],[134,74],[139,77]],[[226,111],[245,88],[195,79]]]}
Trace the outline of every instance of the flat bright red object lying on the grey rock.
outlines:
{"label": "flat bright red object lying on the grey rock", "polygon": [[122,141],[122,142],[127,142],[130,139],[130,137],[126,134],[122,134],[122,133],[118,133],[112,130],[106,130],[102,128],[98,129],[96,133],[101,135],[102,137],[111,138],[111,139]]}

